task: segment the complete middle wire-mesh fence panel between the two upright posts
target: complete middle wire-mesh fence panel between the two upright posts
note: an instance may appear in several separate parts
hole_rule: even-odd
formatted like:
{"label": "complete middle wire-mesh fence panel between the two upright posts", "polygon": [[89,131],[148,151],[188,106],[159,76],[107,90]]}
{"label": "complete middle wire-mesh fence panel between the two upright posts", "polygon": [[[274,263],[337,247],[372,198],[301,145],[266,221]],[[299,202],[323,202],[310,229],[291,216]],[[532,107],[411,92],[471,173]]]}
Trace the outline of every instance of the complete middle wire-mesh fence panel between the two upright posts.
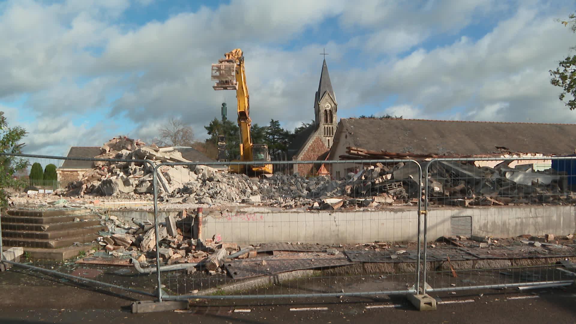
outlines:
{"label": "complete middle wire-mesh fence panel between the two upright posts", "polygon": [[[157,241],[161,262],[154,271],[163,287],[162,299],[418,291],[422,202],[418,163],[273,161],[272,165],[281,171],[260,179],[191,163],[156,165],[155,225],[160,233],[165,228],[181,231],[177,232],[181,240]],[[192,207],[185,216],[160,216],[182,204]],[[226,258],[228,254],[234,257]]]}

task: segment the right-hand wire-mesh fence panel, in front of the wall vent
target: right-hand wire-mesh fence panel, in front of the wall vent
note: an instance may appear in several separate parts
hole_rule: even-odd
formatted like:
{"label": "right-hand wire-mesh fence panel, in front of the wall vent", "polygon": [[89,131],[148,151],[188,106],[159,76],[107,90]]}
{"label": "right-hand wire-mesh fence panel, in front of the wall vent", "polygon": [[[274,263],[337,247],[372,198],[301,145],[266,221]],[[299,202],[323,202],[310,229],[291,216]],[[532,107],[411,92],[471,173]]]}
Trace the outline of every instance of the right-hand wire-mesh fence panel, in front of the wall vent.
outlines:
{"label": "right-hand wire-mesh fence panel, in front of the wall vent", "polygon": [[574,157],[423,164],[424,291],[571,284],[572,166]]}

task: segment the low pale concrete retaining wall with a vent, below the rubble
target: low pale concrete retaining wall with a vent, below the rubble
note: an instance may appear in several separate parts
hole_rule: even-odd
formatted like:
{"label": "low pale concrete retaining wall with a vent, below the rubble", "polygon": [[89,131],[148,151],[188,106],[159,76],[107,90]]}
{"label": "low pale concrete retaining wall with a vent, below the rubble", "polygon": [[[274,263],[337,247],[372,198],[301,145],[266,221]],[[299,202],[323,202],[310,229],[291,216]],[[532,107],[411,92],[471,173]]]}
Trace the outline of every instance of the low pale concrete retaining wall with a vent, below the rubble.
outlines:
{"label": "low pale concrete retaining wall with a vent, below the rubble", "polygon": [[[498,206],[437,208],[429,210],[428,238],[452,235],[452,216],[472,216],[474,235],[506,238],[521,234],[567,235],[576,232],[574,206]],[[152,213],[121,210],[110,212],[126,220],[153,219]],[[159,220],[164,221],[163,212]],[[203,238],[219,235],[225,242],[366,243],[415,241],[417,210],[397,208],[366,212],[286,212],[263,209],[206,212]]]}

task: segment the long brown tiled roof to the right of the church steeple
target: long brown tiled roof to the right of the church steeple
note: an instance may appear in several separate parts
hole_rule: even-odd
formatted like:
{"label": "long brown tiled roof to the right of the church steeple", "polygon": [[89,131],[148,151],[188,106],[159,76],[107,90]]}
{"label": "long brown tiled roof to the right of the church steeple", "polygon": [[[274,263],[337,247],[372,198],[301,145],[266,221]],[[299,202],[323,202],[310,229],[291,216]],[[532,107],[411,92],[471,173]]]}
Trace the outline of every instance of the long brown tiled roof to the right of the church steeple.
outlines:
{"label": "long brown tiled roof to the right of the church steeple", "polygon": [[347,118],[347,146],[415,155],[483,155],[501,150],[544,155],[574,153],[576,125]]}

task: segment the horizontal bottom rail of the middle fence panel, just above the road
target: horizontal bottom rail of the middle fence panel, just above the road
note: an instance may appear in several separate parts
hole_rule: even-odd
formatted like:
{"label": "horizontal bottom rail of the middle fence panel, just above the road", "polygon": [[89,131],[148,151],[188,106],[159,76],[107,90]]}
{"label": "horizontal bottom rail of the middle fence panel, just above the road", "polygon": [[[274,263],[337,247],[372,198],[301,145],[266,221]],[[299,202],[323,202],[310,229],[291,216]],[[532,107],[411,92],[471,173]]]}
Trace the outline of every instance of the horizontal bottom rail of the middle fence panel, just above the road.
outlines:
{"label": "horizontal bottom rail of the middle fence panel, just above the road", "polygon": [[416,293],[415,290],[373,291],[373,292],[329,292],[329,293],[285,293],[278,295],[181,295],[164,296],[165,300],[181,299],[268,299],[268,298],[312,298],[312,297],[367,297],[385,295],[408,295]]}

